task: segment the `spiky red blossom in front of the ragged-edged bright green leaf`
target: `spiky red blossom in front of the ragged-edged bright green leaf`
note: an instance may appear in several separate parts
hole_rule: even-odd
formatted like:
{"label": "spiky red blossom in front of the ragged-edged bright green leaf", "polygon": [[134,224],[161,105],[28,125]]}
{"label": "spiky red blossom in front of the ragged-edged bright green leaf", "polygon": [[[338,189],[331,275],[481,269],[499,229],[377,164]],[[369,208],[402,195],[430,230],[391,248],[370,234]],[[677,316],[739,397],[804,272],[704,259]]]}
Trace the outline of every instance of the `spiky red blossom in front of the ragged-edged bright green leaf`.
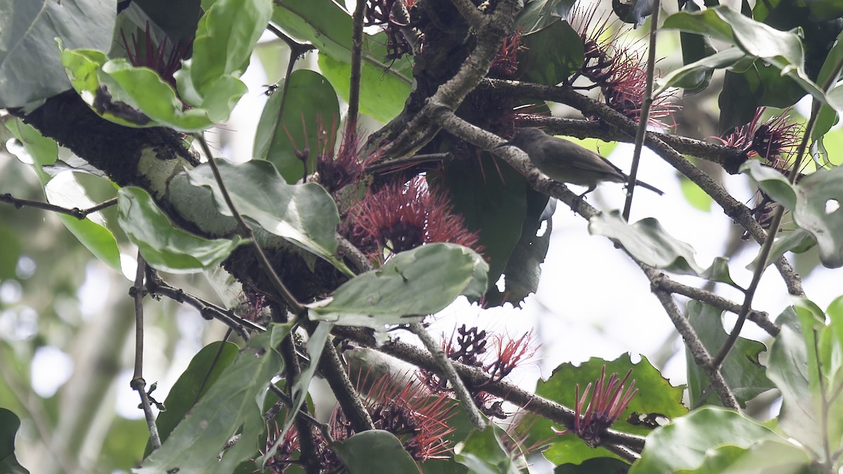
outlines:
{"label": "spiky red blossom in front of the ragged-edged bright green leaf", "polygon": [[629,388],[624,384],[632,374],[632,369],[626,372],[623,380],[619,380],[618,374],[609,375],[606,380],[606,366],[603,366],[603,373],[594,382],[594,393],[589,398],[591,386],[589,383],[580,397],[579,384],[576,389],[576,407],[574,408],[574,427],[572,429],[557,430],[556,434],[576,434],[592,448],[599,446],[600,437],[604,431],[615,424],[620,414],[629,406],[632,397],[636,396],[638,389],[635,387],[635,380],[632,380]]}

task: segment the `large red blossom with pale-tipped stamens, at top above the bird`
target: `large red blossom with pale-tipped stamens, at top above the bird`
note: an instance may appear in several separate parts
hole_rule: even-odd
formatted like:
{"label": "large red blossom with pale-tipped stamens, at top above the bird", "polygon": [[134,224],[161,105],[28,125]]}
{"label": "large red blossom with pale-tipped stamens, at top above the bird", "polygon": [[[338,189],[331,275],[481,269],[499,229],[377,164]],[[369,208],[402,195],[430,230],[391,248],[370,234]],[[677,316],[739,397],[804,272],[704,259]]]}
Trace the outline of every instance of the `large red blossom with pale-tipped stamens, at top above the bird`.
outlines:
{"label": "large red blossom with pale-tipped stamens, at top above the bird", "polygon": [[[575,86],[577,89],[598,87],[609,107],[637,121],[641,118],[642,100],[647,91],[647,58],[639,40],[625,40],[632,28],[618,26],[618,19],[609,14],[598,17],[597,3],[572,9],[571,26],[579,33],[585,46],[583,67],[566,81],[572,85],[579,77],[588,78],[592,85]],[[653,98],[647,125],[667,127],[663,122],[679,110],[671,102],[670,94]]]}

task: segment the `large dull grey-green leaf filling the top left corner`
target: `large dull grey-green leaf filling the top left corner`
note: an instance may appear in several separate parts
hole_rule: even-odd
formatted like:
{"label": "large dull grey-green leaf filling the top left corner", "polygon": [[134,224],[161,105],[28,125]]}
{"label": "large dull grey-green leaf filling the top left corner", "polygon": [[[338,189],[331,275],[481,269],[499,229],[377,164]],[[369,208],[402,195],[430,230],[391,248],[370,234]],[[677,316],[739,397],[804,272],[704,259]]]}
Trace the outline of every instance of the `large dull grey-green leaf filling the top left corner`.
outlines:
{"label": "large dull grey-green leaf filling the top left corner", "polygon": [[70,89],[55,38],[69,48],[106,51],[113,0],[4,0],[0,3],[0,108],[33,105]]}

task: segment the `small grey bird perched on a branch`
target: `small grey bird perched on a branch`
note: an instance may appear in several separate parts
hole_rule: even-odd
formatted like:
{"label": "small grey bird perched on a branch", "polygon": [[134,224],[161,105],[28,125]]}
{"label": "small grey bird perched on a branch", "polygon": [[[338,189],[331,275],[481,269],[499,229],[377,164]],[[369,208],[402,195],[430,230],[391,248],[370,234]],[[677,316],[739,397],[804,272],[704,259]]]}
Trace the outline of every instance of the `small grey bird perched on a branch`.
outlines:
{"label": "small grey bird perched on a branch", "polygon": [[[511,140],[500,147],[505,145],[513,145],[524,150],[535,167],[553,180],[588,186],[588,190],[580,197],[594,191],[594,188],[603,181],[626,183],[628,179],[626,174],[611,164],[608,159],[577,143],[551,137],[539,128],[520,128],[515,131]],[[659,196],[664,194],[657,187],[639,180],[636,180],[636,185],[657,192]]]}

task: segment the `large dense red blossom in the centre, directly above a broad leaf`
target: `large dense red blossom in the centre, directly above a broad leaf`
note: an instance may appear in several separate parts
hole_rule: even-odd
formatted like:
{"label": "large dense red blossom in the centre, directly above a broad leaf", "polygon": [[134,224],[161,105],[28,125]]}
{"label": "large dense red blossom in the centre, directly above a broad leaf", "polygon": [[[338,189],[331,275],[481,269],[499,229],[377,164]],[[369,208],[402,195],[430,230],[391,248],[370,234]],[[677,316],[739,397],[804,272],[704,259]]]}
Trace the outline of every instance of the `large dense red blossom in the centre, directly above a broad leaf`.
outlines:
{"label": "large dense red blossom in the centre, directly above a broad leaf", "polygon": [[[398,253],[433,242],[450,242],[481,251],[479,236],[466,229],[464,219],[441,191],[418,175],[404,183],[393,181],[369,191],[352,212],[353,240],[373,239],[379,250]],[[380,252],[381,254],[383,252]]]}

